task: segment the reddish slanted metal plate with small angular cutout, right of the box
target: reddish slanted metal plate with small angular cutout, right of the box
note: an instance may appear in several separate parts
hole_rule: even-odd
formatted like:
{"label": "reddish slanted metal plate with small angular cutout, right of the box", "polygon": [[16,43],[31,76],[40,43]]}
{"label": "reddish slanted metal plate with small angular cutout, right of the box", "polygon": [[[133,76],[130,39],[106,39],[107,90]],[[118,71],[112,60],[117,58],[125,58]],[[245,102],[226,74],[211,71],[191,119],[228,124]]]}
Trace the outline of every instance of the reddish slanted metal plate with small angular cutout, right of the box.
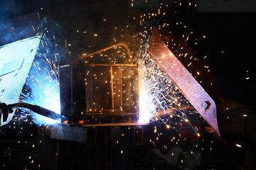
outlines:
{"label": "reddish slanted metal plate with small angular cutout, right of the box", "polygon": [[184,94],[192,106],[211,125],[220,136],[216,115],[216,104],[208,96],[201,85],[191,76],[184,65],[179,62],[171,50],[165,45],[157,28],[152,31],[148,53],[152,60],[162,69],[172,80],[177,88]]}

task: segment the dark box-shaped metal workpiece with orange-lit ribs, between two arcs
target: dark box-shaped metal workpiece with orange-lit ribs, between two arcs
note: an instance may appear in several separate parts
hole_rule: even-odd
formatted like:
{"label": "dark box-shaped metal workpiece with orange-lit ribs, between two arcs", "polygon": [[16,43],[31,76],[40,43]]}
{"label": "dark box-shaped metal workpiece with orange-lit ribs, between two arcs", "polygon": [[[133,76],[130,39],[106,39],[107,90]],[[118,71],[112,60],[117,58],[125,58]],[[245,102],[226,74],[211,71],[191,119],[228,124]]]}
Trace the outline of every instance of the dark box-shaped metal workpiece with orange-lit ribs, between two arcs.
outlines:
{"label": "dark box-shaped metal workpiece with orange-lit ribs, between two arcs", "polygon": [[[138,64],[121,42],[60,62],[62,123],[80,127],[137,125]],[[112,59],[112,60],[110,60]]]}

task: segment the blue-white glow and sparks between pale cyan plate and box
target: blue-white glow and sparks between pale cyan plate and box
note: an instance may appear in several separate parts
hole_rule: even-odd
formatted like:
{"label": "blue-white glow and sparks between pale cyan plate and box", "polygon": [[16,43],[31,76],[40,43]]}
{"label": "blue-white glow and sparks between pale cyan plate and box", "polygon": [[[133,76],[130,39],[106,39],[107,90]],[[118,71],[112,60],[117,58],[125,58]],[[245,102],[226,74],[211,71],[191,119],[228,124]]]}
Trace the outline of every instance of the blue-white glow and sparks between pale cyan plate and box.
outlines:
{"label": "blue-white glow and sparks between pale cyan plate and box", "polygon": [[[19,101],[60,113],[59,70],[57,63],[60,62],[61,53],[56,52],[55,49],[55,40],[57,38],[55,35],[48,35],[48,33],[45,33],[45,36],[41,39],[28,77],[26,80],[24,79],[26,86],[24,86],[21,92]],[[65,43],[67,46],[66,40]],[[68,44],[68,46],[70,45]],[[24,120],[32,116],[32,120],[37,124],[60,122],[27,110],[19,109],[19,112],[25,113],[26,116],[20,115],[18,120]]]}

